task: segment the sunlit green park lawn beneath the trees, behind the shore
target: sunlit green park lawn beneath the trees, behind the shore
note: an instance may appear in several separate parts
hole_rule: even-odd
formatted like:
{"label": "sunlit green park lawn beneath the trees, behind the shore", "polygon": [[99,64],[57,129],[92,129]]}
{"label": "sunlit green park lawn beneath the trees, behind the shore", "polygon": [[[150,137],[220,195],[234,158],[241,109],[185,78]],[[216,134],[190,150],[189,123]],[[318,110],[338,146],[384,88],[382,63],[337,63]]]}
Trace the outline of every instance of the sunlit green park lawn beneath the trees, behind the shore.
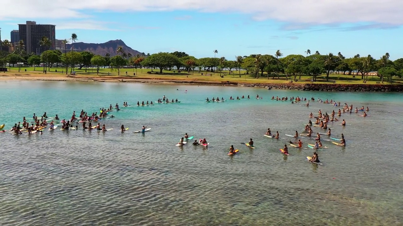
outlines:
{"label": "sunlit green park lawn beneath the trees, behind the shore", "polygon": [[[9,72],[6,72],[6,74],[18,74],[18,75],[37,75],[40,77],[46,77],[46,76],[57,76],[57,77],[64,77],[66,76],[65,68],[50,68],[48,69],[48,72],[45,76],[43,73],[43,68],[42,67],[21,67],[21,72],[18,72],[18,67],[11,67],[8,68],[10,70]],[[27,70],[25,72],[25,70]],[[70,74],[70,70],[67,73],[68,75]],[[56,72],[57,71],[57,72]],[[112,68],[100,68],[99,70],[99,75],[96,73],[96,68],[87,68],[87,72],[85,72],[85,68],[83,69],[78,69],[75,68],[74,71],[76,72],[77,77],[90,77],[90,78],[102,78],[105,76],[118,76],[118,71],[116,69]],[[254,75],[251,74],[246,74],[246,71],[242,71],[239,74],[239,71],[237,72],[231,72],[229,74],[229,71],[222,71],[220,72],[181,72],[177,73],[176,70],[163,70],[162,74],[155,74],[155,72],[159,72],[159,70],[153,70],[153,74],[148,74],[147,72],[150,72],[151,69],[133,69],[133,68],[121,68],[120,69],[120,78],[121,77],[127,77],[131,79],[154,79],[154,80],[188,80],[188,81],[202,81],[202,82],[237,82],[237,83],[287,83],[290,82],[291,80],[294,80],[294,76],[289,77],[288,80],[286,80],[284,74],[280,74],[279,77],[277,78],[277,75],[273,79],[273,75],[269,75],[269,79],[267,79],[267,74],[263,74],[262,77],[259,79],[254,78]],[[127,75],[126,75],[127,72]],[[109,73],[109,74],[108,74]],[[135,73],[135,76],[133,75]],[[203,75],[202,75],[203,74]],[[220,74],[224,76],[224,78],[220,77]],[[211,75],[211,76],[210,76]],[[186,77],[188,76],[188,77]],[[240,77],[241,76],[241,77]],[[296,77],[298,80],[297,82],[293,81],[294,83],[297,84],[304,84],[304,83],[310,83],[310,80],[312,79],[312,76],[307,76],[307,75],[301,75],[301,79],[299,79],[299,76]],[[332,84],[333,81],[336,81],[336,84],[363,84],[363,80],[361,80],[361,75],[356,75],[355,78],[353,78],[353,75],[343,75],[343,74],[330,74],[329,75],[329,80],[326,81],[326,74],[322,74],[317,76],[315,84]],[[380,82],[380,78],[378,76],[368,76],[368,81],[366,84],[376,84],[376,82]],[[402,83],[403,79],[401,78],[393,78],[393,83]],[[390,84],[389,82],[386,82],[386,79],[384,80],[384,84]]]}

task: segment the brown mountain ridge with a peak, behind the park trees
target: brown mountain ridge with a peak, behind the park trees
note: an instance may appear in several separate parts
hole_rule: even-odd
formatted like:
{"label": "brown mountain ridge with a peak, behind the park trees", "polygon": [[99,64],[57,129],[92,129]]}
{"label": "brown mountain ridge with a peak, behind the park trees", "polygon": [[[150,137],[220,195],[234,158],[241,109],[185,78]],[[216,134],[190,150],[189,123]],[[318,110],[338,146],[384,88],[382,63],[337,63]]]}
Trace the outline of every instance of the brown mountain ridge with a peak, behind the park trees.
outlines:
{"label": "brown mountain ridge with a peak, behind the park trees", "polygon": [[[66,49],[71,49],[73,44],[67,44]],[[116,49],[118,46],[122,46],[123,50],[126,53],[131,53],[131,55],[135,56],[141,53],[137,50],[132,49],[131,47],[127,46],[122,40],[111,40],[107,41],[106,43],[83,43],[83,42],[75,42],[74,43],[74,50],[78,51],[89,51],[96,55],[105,55],[105,53],[109,53],[110,56],[116,55]]]}

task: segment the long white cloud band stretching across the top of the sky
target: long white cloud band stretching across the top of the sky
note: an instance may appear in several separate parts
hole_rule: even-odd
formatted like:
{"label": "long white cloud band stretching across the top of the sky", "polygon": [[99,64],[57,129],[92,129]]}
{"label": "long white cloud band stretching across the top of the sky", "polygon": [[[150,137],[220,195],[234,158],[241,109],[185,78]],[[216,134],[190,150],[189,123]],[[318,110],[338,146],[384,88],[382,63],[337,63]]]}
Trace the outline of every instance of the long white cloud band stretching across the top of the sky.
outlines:
{"label": "long white cloud band stretching across the top of the sky", "polygon": [[[14,0],[0,14],[10,18],[83,18],[89,11],[195,10],[240,12],[255,20],[274,19],[299,25],[334,23],[403,24],[403,1],[399,0]],[[300,26],[298,26],[300,27]]]}

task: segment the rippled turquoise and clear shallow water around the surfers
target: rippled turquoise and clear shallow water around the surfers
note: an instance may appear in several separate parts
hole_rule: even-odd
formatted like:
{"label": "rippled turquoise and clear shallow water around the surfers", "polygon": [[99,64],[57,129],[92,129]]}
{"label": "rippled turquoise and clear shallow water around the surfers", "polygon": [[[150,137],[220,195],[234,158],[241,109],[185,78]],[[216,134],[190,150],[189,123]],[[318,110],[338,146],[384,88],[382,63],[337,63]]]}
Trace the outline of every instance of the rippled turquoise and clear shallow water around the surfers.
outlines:
{"label": "rippled turquoise and clear shallow water around the surfers", "polygon": [[[403,94],[303,92],[221,86],[106,82],[0,82],[6,129],[33,113],[95,112],[110,104],[181,103],[120,107],[102,120],[112,131],[0,134],[0,223],[4,225],[401,225],[403,222]],[[179,89],[179,90],[177,90]],[[188,92],[185,93],[184,90]],[[257,94],[263,99],[253,99]],[[251,99],[206,103],[209,97]],[[372,117],[344,114],[346,147],[278,151],[303,130],[310,112],[271,96],[326,98],[370,108]],[[124,133],[120,125],[130,127]],[[133,134],[142,125],[152,128]],[[264,137],[270,127],[280,140]],[[314,132],[323,132],[314,129]],[[174,146],[184,133],[206,138],[208,149]],[[336,137],[336,136],[335,136]],[[256,149],[240,144],[249,138]],[[294,141],[294,140],[293,140]],[[310,143],[303,138],[305,145]],[[230,157],[229,146],[239,149]]]}

